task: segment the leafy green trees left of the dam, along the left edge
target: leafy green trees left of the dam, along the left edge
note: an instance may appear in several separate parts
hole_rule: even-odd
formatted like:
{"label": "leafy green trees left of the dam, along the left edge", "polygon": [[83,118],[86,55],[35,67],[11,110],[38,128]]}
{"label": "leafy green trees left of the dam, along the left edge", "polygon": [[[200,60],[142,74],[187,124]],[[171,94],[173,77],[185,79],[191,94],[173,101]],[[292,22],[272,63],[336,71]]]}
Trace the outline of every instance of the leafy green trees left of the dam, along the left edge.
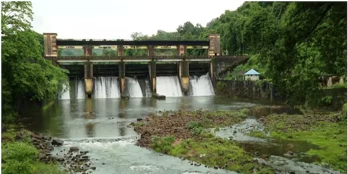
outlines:
{"label": "leafy green trees left of the dam, along the left edge", "polygon": [[53,66],[43,58],[43,36],[32,31],[30,21],[33,12],[31,2],[1,2],[2,30],[2,117],[13,118],[23,99],[53,99],[60,89],[60,82],[66,81],[66,70]]}

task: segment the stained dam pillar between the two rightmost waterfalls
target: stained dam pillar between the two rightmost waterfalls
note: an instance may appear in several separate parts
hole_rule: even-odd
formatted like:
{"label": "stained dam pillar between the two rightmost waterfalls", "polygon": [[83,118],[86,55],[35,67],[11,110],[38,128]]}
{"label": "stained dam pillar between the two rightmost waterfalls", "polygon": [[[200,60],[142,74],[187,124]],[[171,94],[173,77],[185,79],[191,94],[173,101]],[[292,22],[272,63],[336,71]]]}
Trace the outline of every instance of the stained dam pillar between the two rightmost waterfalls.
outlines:
{"label": "stained dam pillar between the two rightmost waterfalls", "polygon": [[[176,50],[177,56],[184,56],[186,52],[185,45],[178,45]],[[189,84],[189,71],[188,71],[188,61],[182,60],[179,62],[179,80],[181,89],[184,95],[187,95],[188,92],[188,84]]]}

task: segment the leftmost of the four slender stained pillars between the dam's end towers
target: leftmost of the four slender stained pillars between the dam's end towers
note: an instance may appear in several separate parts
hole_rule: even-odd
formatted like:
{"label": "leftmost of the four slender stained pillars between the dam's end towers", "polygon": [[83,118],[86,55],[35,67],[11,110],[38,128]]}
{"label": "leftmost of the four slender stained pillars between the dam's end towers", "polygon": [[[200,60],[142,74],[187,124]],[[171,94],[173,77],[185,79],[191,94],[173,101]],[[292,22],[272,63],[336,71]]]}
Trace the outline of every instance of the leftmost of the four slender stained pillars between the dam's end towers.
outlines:
{"label": "leftmost of the four slender stained pillars between the dam's end towers", "polygon": [[[84,45],[84,55],[86,59],[92,56],[92,46]],[[87,98],[90,98],[93,93],[93,63],[85,62],[85,89]]]}

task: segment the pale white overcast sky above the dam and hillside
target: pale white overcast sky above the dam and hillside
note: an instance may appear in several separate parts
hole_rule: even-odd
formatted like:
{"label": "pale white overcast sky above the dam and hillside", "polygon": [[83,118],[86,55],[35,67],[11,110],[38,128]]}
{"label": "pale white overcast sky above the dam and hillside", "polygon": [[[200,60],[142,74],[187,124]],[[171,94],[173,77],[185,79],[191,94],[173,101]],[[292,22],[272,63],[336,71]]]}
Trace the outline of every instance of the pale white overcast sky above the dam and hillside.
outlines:
{"label": "pale white overcast sky above the dam and hillside", "polygon": [[[212,4],[212,2],[215,3]],[[133,32],[173,32],[190,21],[205,26],[243,0],[32,0],[32,26],[60,39],[130,39]]]}

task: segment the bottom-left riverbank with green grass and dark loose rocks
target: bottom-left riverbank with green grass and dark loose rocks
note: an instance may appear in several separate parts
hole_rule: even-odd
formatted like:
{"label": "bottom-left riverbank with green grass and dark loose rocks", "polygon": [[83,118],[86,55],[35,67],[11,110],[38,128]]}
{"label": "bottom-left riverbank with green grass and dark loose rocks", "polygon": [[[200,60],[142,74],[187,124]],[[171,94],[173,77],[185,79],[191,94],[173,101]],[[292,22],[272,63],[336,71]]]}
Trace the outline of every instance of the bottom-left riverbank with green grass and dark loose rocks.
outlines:
{"label": "bottom-left riverbank with green grass and dark loose rocks", "polygon": [[[95,170],[90,167],[87,151],[71,147],[63,156],[52,154],[63,141],[32,133],[22,127],[6,125],[1,134],[3,174],[87,174]],[[64,150],[65,151],[65,150]]]}

